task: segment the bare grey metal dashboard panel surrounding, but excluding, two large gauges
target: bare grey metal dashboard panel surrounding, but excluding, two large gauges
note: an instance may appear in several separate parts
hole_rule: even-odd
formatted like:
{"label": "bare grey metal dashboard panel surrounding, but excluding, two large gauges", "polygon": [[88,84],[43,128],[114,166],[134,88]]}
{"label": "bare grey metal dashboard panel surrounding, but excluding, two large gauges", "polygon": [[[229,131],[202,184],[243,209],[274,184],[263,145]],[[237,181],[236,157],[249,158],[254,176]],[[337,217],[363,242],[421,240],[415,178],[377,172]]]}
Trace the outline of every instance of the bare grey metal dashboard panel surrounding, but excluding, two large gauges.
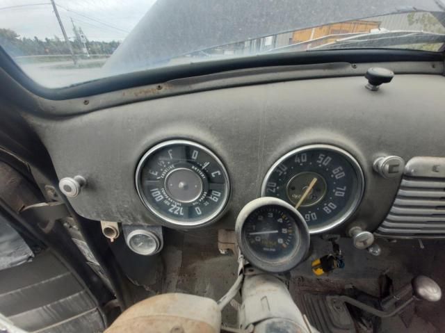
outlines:
{"label": "bare grey metal dashboard panel surrounding, but excluding, two large gauges", "polygon": [[365,84],[363,76],[261,83],[26,119],[47,147],[59,179],[76,174],[87,179],[88,186],[70,202],[92,220],[161,223],[138,197],[134,177],[141,156],[165,140],[200,143],[224,163],[231,193],[210,227],[227,229],[234,228],[241,208],[259,197],[275,161],[303,145],[327,144],[354,156],[365,181],[357,211],[334,231],[351,225],[373,231],[401,182],[380,177],[373,161],[385,155],[405,161],[445,155],[445,79],[396,74],[377,92]]}

